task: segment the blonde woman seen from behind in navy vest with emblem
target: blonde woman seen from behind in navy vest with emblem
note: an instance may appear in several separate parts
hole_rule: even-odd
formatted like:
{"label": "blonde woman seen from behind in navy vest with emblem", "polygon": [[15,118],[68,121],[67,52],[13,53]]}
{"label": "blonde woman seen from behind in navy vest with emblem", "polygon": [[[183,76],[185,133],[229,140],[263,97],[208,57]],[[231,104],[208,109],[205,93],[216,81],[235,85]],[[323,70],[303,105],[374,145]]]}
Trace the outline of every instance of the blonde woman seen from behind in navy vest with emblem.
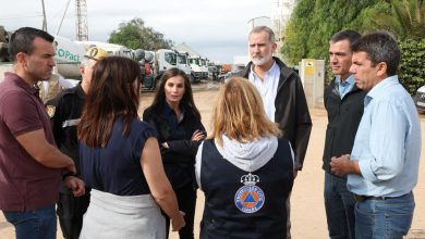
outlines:
{"label": "blonde woman seen from behind in navy vest with emblem", "polygon": [[211,122],[195,165],[205,193],[201,239],[287,238],[293,152],[254,85],[241,77],[222,85]]}

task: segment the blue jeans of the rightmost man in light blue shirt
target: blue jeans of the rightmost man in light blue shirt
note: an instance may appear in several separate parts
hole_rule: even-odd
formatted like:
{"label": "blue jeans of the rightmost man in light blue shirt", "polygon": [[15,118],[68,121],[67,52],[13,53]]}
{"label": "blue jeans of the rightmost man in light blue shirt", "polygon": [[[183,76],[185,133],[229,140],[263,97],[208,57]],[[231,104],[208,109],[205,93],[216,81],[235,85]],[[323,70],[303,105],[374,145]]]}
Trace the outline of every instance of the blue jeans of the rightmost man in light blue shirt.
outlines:
{"label": "blue jeans of the rightmost man in light blue shirt", "polygon": [[355,237],[401,239],[409,232],[415,202],[413,193],[386,200],[366,200],[355,205]]}

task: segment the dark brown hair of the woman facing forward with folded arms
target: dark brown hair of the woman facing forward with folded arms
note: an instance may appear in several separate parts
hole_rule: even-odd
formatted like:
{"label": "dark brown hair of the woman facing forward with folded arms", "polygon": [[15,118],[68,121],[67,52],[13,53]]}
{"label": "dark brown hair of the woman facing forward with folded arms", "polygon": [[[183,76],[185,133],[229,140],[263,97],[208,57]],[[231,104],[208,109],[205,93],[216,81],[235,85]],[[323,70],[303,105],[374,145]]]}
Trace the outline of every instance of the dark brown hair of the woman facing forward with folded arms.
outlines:
{"label": "dark brown hair of the woman facing forward with folded arms", "polygon": [[193,92],[192,92],[192,87],[191,87],[191,81],[189,80],[189,76],[180,68],[169,68],[167,70],[160,81],[159,86],[157,87],[157,93],[155,95],[154,102],[151,103],[151,109],[154,111],[158,111],[159,109],[162,109],[162,106],[167,103],[166,102],[166,83],[169,78],[174,77],[174,76],[181,76],[184,78],[184,93],[183,98],[180,101],[179,106],[183,106],[186,110],[191,110],[195,117],[201,120],[201,113],[196,109],[195,102],[193,100]]}

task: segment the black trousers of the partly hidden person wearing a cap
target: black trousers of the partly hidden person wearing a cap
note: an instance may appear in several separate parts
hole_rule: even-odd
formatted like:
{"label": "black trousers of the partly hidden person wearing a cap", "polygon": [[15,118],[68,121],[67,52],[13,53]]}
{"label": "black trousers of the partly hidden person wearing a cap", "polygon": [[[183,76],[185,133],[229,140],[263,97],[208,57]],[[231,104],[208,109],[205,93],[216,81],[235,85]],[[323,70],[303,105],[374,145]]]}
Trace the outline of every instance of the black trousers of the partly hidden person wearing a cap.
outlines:
{"label": "black trousers of the partly hidden person wearing a cap", "polygon": [[89,202],[90,193],[87,189],[82,197],[68,193],[59,194],[57,214],[64,238],[78,239],[83,226],[83,215],[86,213]]}

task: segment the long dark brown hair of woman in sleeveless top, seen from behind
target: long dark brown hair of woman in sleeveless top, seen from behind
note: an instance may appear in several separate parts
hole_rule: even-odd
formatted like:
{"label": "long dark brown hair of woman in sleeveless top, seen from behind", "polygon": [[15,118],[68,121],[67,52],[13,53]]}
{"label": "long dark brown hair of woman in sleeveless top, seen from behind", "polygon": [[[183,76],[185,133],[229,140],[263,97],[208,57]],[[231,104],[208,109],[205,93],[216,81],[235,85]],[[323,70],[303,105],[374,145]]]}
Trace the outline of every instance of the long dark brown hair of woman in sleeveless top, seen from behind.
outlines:
{"label": "long dark brown hair of woman in sleeveless top, seen from behind", "polygon": [[88,147],[105,147],[113,122],[119,116],[123,117],[125,124],[122,135],[126,135],[132,121],[138,118],[139,85],[141,68],[137,62],[122,56],[98,61],[93,68],[86,104],[78,124],[78,138]]}

